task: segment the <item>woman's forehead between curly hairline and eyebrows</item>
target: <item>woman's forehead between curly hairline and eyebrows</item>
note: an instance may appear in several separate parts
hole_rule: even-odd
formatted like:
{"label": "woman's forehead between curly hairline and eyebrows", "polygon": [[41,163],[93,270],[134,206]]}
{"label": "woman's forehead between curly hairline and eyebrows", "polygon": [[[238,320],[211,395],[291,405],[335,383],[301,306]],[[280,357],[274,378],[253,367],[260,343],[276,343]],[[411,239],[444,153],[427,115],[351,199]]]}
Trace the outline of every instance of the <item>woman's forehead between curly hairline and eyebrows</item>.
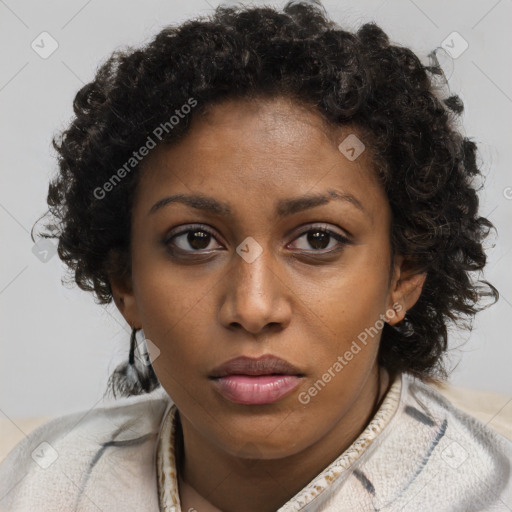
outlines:
{"label": "woman's forehead between curly hairline and eyebrows", "polygon": [[[334,189],[363,195],[372,210],[382,187],[364,142],[355,127],[330,125],[289,98],[227,100],[194,117],[179,142],[153,150],[142,164],[138,201],[147,206],[178,191],[270,206]],[[356,158],[347,152],[354,145]]]}

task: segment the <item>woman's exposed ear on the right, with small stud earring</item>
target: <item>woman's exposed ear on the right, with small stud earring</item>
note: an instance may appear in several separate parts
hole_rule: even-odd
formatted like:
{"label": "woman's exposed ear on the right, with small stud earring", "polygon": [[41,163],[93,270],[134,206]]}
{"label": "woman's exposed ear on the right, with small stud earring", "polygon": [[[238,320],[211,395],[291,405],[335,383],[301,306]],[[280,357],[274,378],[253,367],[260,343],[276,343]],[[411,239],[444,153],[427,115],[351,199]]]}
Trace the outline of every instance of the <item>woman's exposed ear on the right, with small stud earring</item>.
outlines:
{"label": "woman's exposed ear on the right, with small stud earring", "polygon": [[396,255],[393,263],[393,278],[390,285],[386,321],[390,325],[401,322],[408,309],[411,309],[420,298],[423,285],[427,278],[426,272],[418,272],[402,255]]}

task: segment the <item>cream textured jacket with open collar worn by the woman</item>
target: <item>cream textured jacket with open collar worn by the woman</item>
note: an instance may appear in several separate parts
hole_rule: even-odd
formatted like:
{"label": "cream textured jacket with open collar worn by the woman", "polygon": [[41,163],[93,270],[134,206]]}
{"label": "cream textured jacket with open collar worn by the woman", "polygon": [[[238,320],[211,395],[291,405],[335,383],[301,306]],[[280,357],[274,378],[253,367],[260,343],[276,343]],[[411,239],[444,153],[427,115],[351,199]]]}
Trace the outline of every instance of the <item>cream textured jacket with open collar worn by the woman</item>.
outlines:
{"label": "cream textured jacket with open collar worn by the woman", "polygon": [[[39,427],[0,464],[0,510],[158,512],[167,489],[168,510],[185,512],[168,456],[175,418],[160,389]],[[402,374],[359,438],[279,512],[512,511],[511,464],[509,440]]]}

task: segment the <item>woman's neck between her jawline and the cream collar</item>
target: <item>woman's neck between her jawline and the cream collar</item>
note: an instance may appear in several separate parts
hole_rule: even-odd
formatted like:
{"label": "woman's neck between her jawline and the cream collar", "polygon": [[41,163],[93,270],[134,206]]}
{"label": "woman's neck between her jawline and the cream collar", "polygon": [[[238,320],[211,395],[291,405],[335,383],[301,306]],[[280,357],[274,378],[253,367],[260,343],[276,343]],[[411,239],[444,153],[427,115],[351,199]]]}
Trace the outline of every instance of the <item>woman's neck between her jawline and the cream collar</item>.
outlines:
{"label": "woman's neck between her jawline and the cream collar", "polygon": [[385,369],[375,371],[372,377],[364,400],[355,401],[364,402],[366,408],[354,407],[319,441],[280,459],[245,459],[228,454],[180,416],[184,457],[178,461],[178,477],[182,510],[272,512],[280,508],[341,455],[373,418],[391,377]]}

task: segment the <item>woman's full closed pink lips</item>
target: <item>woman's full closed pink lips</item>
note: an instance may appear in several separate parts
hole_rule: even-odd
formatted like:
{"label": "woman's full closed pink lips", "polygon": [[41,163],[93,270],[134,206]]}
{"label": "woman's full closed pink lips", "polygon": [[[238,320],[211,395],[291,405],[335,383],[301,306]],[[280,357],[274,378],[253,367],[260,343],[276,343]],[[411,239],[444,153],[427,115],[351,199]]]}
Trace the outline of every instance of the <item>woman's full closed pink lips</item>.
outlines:
{"label": "woman's full closed pink lips", "polygon": [[217,367],[210,375],[215,389],[239,404],[269,404],[295,389],[304,375],[284,359],[266,354],[242,356]]}

